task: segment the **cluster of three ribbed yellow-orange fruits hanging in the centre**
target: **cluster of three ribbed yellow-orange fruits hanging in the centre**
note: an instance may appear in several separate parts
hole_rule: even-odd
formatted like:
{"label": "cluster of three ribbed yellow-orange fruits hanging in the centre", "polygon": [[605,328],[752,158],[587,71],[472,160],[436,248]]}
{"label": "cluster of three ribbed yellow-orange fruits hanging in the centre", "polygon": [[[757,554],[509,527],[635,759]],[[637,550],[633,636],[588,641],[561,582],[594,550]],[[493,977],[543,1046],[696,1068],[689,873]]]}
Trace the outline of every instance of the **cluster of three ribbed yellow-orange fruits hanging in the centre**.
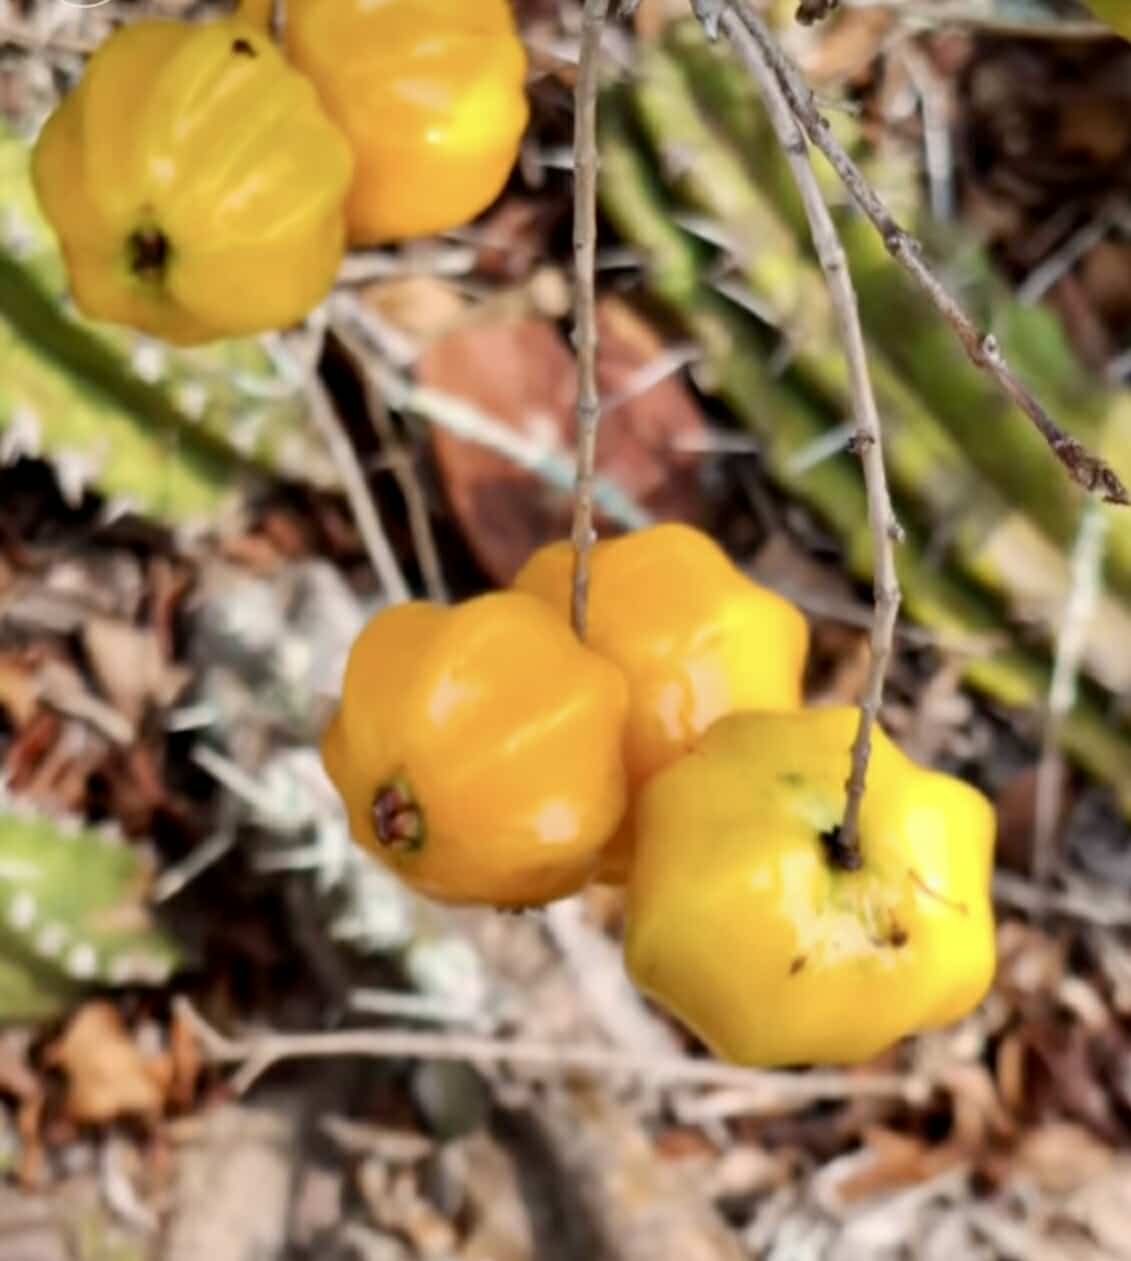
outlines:
{"label": "cluster of three ribbed yellow-orange fruits hanging in the centre", "polygon": [[572,550],[507,591],[378,613],[323,758],[356,840],[420,892],[530,907],[628,881],[637,985],[715,1052],[866,1059],[994,973],[995,818],[883,734],[845,852],[852,709],[802,709],[808,627],[704,533]]}

